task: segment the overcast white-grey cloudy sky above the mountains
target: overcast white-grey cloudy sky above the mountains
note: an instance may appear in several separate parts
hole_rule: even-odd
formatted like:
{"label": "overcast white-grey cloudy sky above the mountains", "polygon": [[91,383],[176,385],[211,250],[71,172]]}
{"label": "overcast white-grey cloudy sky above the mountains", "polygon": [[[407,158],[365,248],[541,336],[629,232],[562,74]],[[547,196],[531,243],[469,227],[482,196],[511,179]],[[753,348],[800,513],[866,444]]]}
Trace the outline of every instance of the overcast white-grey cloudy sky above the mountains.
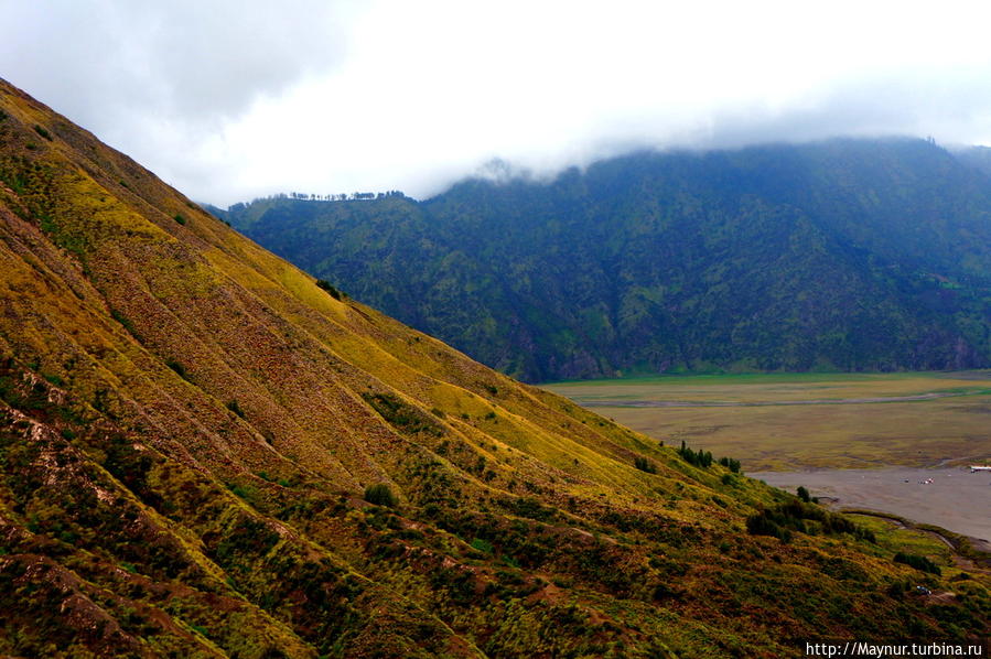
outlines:
{"label": "overcast white-grey cloudy sky above the mountains", "polygon": [[0,0],[0,77],[195,199],[499,158],[837,134],[991,144],[991,3]]}

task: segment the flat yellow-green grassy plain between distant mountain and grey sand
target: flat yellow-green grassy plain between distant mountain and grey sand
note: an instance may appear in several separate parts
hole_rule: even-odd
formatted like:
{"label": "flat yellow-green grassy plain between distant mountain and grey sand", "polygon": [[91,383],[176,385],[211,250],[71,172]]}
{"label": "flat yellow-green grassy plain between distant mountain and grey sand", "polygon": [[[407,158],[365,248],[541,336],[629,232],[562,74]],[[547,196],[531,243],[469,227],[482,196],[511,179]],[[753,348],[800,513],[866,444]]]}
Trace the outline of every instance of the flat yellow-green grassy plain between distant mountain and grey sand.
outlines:
{"label": "flat yellow-green grassy plain between distant mountain and grey sand", "polygon": [[[548,385],[668,444],[742,461],[746,471],[934,466],[991,458],[987,371],[661,377]],[[862,403],[797,401],[945,398]],[[615,401],[616,407],[608,406]],[[623,407],[632,401],[733,407]]]}

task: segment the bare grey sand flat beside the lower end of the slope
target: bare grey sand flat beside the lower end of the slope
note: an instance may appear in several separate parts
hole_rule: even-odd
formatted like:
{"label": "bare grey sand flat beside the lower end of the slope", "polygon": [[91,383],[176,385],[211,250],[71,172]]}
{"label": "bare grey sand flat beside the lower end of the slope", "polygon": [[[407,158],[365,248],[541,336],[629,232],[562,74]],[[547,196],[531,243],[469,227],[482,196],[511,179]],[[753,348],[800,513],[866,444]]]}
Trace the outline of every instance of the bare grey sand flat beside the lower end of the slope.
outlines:
{"label": "bare grey sand flat beside the lower end of the slope", "polygon": [[991,541],[991,472],[891,467],[754,472],[747,476],[790,491],[804,485],[812,496],[834,497],[834,507],[893,512]]}

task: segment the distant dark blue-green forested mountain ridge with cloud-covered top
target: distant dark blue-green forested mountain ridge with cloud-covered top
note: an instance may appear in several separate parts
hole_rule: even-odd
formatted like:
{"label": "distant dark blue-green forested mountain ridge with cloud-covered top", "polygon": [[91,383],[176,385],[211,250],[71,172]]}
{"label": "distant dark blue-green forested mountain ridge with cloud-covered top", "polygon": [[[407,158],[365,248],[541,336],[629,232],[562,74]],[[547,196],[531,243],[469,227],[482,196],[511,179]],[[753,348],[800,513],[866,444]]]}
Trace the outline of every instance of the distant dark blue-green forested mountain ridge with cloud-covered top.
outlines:
{"label": "distant dark blue-green forested mountain ridge with cloud-covered top", "polygon": [[991,179],[973,158],[911,139],[637,153],[422,203],[282,198],[223,215],[531,381],[983,367]]}

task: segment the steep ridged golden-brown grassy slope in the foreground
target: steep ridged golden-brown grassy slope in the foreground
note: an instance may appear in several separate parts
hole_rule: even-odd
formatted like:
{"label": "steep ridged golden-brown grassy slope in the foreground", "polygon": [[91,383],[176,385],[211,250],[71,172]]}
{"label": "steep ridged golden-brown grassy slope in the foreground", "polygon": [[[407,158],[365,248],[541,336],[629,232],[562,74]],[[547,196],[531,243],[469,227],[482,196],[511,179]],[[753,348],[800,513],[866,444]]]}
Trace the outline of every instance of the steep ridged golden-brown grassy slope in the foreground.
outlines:
{"label": "steep ridged golden-brown grassy slope in the foreground", "polygon": [[7,84],[0,110],[0,653],[987,631],[985,576],[905,594],[958,571],[333,298]]}

